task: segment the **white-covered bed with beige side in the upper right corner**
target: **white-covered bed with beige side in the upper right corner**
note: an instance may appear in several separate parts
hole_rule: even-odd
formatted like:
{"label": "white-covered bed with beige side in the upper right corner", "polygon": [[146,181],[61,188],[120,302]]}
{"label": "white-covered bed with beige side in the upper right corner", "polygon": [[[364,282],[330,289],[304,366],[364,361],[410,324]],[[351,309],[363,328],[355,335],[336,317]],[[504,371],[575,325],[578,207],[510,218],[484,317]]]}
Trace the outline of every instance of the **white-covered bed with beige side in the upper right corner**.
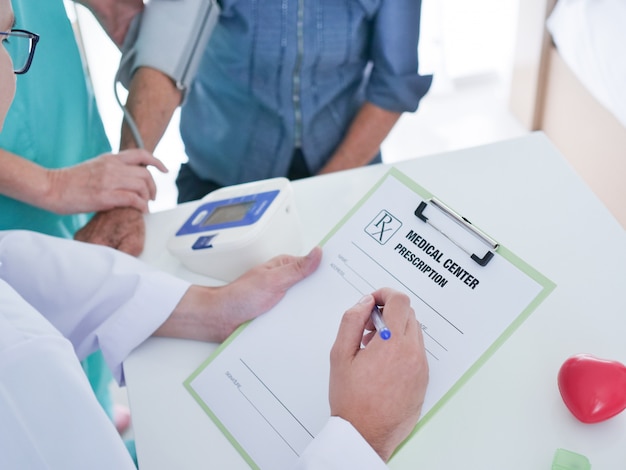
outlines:
{"label": "white-covered bed with beige side in the upper right corner", "polygon": [[520,20],[514,113],[626,228],[626,0],[520,0]]}

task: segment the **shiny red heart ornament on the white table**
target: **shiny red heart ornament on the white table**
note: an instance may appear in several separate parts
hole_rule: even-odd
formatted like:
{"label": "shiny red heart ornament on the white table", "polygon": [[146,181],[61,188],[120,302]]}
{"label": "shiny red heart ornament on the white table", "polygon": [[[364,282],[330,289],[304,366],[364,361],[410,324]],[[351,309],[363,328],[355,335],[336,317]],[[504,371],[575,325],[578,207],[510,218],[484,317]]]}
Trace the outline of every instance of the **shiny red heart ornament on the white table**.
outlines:
{"label": "shiny red heart ornament on the white table", "polygon": [[583,423],[598,423],[626,408],[626,366],[579,354],[567,359],[558,377],[567,408]]}

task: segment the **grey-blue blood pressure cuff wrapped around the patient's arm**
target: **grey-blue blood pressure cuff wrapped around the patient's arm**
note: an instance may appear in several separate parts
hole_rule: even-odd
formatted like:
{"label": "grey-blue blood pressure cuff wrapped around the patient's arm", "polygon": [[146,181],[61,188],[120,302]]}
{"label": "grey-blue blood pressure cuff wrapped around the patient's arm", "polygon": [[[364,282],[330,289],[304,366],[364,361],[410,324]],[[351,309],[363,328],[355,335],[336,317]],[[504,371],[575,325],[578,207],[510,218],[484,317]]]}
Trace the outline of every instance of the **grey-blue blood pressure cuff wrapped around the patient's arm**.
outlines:
{"label": "grey-blue blood pressure cuff wrapped around the patient's arm", "polygon": [[126,35],[117,80],[128,89],[137,68],[151,67],[168,75],[184,94],[218,16],[215,0],[150,0]]}

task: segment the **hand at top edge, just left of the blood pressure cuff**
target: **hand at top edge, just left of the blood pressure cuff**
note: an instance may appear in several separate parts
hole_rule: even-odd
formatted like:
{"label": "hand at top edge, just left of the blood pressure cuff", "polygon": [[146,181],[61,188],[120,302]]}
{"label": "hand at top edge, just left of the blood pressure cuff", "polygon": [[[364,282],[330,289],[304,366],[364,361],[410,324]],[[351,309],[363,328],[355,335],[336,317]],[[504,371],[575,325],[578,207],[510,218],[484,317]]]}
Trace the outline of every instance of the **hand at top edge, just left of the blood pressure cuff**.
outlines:
{"label": "hand at top edge, just left of the blood pressure cuff", "polygon": [[143,11],[143,0],[74,0],[86,6],[117,47],[122,47],[130,23]]}

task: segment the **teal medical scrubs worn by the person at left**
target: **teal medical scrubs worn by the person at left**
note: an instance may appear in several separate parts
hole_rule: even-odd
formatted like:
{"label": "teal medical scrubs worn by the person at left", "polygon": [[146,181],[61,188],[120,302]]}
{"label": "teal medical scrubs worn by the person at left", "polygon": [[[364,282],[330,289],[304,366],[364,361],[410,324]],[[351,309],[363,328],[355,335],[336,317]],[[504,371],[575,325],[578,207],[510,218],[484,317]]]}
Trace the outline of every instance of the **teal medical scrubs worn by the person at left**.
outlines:
{"label": "teal medical scrubs worn by the person at left", "polygon": [[[12,0],[16,28],[41,36],[33,64],[17,76],[15,100],[0,133],[0,148],[47,168],[75,165],[111,146],[76,45],[63,0]],[[29,229],[72,238],[88,214],[58,215],[0,196],[0,229]],[[109,416],[112,376],[101,353],[83,361]]]}

